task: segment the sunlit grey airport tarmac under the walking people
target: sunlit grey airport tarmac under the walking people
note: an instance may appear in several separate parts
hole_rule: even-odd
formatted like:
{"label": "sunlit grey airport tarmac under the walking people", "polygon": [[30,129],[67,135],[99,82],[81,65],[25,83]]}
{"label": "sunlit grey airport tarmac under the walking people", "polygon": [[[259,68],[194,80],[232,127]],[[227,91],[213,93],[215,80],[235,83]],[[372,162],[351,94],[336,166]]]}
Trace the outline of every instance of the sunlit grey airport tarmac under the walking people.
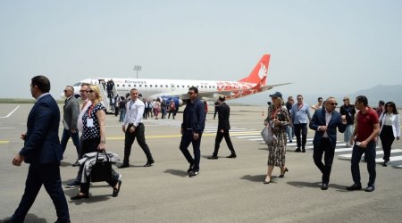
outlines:
{"label": "sunlit grey airport tarmac under the walking people", "polygon": [[[13,213],[21,199],[28,165],[14,167],[13,156],[21,148],[19,136],[25,131],[32,104],[0,104],[0,219]],[[402,219],[401,161],[391,166],[377,165],[377,189],[373,193],[348,192],[352,184],[350,150],[339,142],[334,159],[330,188],[320,189],[321,174],[314,166],[312,149],[294,153],[288,146],[285,178],[273,178],[264,185],[267,149],[258,138],[263,128],[265,107],[232,106],[231,138],[237,159],[226,159],[229,150],[224,143],[220,159],[207,160],[214,149],[217,121],[209,113],[202,139],[200,175],[188,178],[188,163],[180,153],[180,120],[145,120],[147,143],[155,157],[155,165],[144,168],[144,153],[135,144],[131,167],[117,169],[122,175],[121,193],[112,197],[112,188],[93,183],[88,200],[70,201],[77,188],[64,188],[69,201],[72,222],[400,222]],[[123,134],[117,118],[108,115],[106,148],[123,154]],[[61,128],[62,129],[62,128]],[[309,131],[311,138],[314,132]],[[342,141],[339,135],[339,141]],[[401,155],[400,141],[394,143]],[[343,150],[342,150],[343,149]],[[381,161],[381,148],[377,158]],[[399,159],[399,158],[397,158]],[[70,142],[62,163],[63,183],[75,177],[75,148]],[[360,164],[362,184],[368,175],[365,163]],[[273,176],[280,174],[274,169]],[[54,222],[54,206],[42,189],[27,216],[27,222]]]}

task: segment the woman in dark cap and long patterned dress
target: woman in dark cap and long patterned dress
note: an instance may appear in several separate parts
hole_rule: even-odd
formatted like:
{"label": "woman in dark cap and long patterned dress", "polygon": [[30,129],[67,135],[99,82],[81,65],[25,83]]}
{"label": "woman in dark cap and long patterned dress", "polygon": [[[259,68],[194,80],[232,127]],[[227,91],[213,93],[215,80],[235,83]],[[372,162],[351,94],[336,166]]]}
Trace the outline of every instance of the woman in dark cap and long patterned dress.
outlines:
{"label": "woman in dark cap and long patterned dress", "polygon": [[288,168],[285,166],[285,154],[286,154],[286,126],[289,125],[289,113],[286,107],[284,107],[282,94],[275,92],[270,95],[272,104],[268,107],[267,118],[264,121],[264,125],[269,125],[272,128],[274,139],[271,145],[268,145],[268,169],[264,180],[264,184],[269,184],[272,178],[272,170],[274,166],[280,167],[281,175],[278,178],[283,178],[285,172],[288,172]]}

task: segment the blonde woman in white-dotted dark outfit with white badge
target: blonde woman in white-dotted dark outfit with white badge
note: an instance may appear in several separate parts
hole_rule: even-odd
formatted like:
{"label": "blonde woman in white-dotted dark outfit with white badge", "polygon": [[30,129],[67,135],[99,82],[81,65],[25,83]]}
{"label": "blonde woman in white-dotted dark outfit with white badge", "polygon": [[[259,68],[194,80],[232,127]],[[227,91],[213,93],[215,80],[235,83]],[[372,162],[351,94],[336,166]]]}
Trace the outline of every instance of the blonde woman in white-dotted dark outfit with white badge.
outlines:
{"label": "blonde woman in white-dotted dark outfit with white badge", "polygon": [[[100,95],[99,87],[88,86],[88,98],[91,101],[91,106],[82,116],[83,132],[81,136],[81,153],[93,153],[105,151],[106,136],[105,136],[105,116],[106,108],[102,103],[102,95]],[[84,165],[80,165],[83,169]],[[119,194],[121,187],[121,175],[112,169],[112,179],[107,183],[113,187],[113,197]],[[89,198],[89,178],[86,182],[80,183],[80,193],[71,197],[71,200],[79,200],[81,198]]]}

